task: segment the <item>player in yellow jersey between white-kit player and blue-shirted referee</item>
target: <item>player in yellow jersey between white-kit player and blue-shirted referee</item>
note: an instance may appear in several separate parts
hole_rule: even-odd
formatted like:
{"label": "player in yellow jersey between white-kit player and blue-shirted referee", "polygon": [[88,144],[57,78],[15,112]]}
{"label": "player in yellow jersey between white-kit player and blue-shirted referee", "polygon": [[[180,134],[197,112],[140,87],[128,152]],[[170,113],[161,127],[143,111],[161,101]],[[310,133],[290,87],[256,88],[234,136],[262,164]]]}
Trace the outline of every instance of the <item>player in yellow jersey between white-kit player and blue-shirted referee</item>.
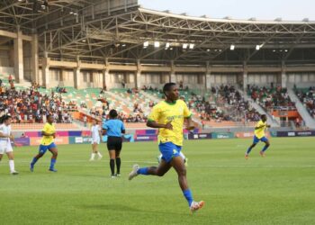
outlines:
{"label": "player in yellow jersey between white-kit player and blue-shirted referee", "polygon": [[56,130],[55,130],[55,126],[53,124],[53,117],[51,114],[49,114],[47,116],[47,122],[43,128],[43,130],[41,130],[41,141],[40,141],[40,149],[39,149],[39,154],[36,157],[33,157],[32,161],[31,161],[31,172],[34,171],[34,165],[37,162],[37,160],[40,159],[40,157],[42,157],[47,150],[49,150],[52,154],[52,157],[50,159],[50,166],[49,166],[49,171],[51,172],[57,172],[57,169],[55,169],[55,164],[56,164],[56,160],[57,160],[57,156],[58,156],[58,150],[57,150],[57,146],[54,143],[54,139],[56,136]]}

